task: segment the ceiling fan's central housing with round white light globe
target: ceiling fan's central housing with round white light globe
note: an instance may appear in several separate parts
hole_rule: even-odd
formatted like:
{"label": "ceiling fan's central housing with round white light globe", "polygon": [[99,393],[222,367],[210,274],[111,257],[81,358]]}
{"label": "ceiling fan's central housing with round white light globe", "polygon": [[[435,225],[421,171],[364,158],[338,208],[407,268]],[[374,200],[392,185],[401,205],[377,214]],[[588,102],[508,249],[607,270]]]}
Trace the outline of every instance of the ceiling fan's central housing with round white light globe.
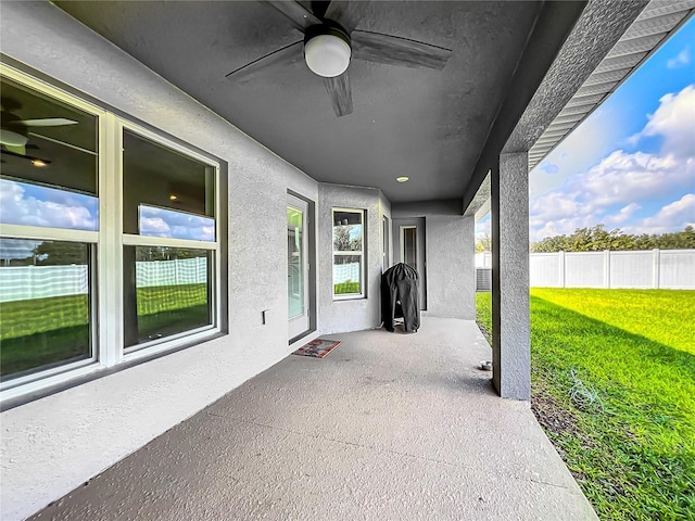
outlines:
{"label": "ceiling fan's central housing with round white light globe", "polygon": [[350,35],[334,22],[313,25],[304,33],[304,60],[318,76],[340,76],[348,69],[351,54]]}

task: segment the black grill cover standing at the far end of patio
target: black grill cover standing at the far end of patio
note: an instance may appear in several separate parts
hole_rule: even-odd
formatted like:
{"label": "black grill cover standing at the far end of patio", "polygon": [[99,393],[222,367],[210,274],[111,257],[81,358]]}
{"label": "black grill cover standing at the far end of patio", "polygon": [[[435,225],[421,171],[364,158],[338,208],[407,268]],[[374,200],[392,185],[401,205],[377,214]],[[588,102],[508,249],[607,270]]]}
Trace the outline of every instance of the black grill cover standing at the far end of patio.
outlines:
{"label": "black grill cover standing at the far end of patio", "polygon": [[417,270],[400,263],[381,276],[381,320],[393,331],[393,319],[403,317],[405,331],[420,327],[419,277]]}

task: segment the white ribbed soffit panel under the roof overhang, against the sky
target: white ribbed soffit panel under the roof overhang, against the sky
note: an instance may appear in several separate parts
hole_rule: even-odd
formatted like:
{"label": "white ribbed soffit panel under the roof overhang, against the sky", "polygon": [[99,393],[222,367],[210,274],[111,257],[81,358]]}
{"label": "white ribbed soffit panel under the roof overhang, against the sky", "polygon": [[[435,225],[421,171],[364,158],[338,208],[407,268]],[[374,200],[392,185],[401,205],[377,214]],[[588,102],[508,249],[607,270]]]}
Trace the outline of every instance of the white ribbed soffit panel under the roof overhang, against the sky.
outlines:
{"label": "white ribbed soffit panel under the roof overhang, against the sky", "polygon": [[529,151],[529,170],[601,105],[695,10],[695,0],[652,0]]}

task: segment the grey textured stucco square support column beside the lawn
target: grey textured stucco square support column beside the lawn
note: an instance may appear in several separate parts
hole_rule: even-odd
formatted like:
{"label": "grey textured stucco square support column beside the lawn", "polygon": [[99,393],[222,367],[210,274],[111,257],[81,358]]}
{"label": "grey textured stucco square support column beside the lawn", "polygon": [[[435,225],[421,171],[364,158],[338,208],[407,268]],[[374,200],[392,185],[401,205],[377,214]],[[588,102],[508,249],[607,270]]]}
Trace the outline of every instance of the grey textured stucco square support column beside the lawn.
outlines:
{"label": "grey textured stucco square support column beside the lawn", "polygon": [[528,152],[492,171],[492,360],[500,396],[531,399]]}

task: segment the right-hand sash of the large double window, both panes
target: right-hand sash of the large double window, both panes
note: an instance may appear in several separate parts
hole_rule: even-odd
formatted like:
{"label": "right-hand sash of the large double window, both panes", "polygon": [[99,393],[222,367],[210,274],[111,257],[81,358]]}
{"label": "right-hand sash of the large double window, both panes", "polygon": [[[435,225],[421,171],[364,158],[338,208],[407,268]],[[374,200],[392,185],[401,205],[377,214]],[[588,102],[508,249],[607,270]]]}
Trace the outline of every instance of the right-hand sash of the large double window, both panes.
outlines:
{"label": "right-hand sash of the large double window, both panes", "polygon": [[[123,132],[124,340],[214,325],[215,168]],[[156,239],[155,239],[156,238]]]}

